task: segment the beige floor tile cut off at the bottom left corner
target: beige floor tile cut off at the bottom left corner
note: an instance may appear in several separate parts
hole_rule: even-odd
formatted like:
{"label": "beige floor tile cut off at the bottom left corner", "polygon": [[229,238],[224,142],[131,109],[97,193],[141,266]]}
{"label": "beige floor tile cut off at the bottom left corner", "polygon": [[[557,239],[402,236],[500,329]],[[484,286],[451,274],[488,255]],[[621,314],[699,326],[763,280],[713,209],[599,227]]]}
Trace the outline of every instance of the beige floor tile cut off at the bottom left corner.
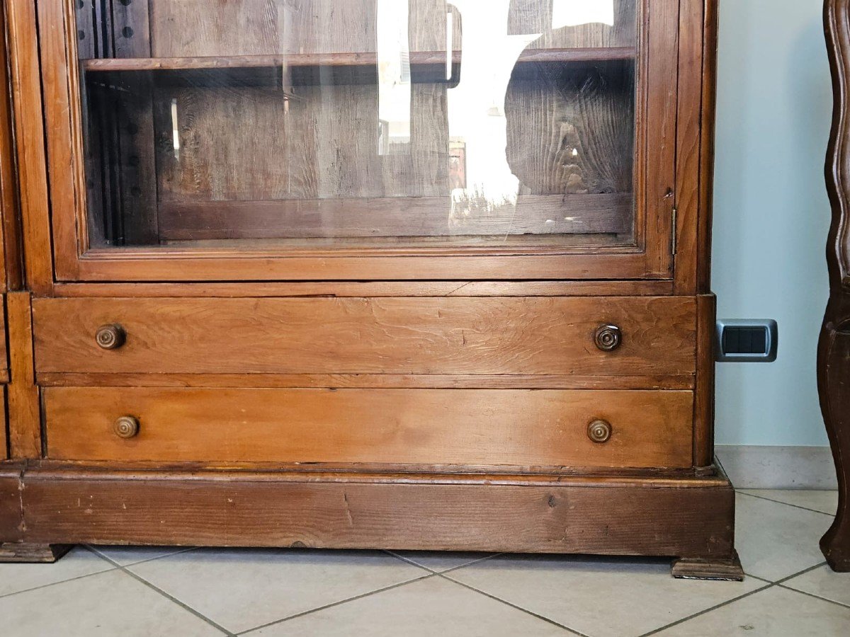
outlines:
{"label": "beige floor tile cut off at the bottom left corner", "polygon": [[3,637],[205,637],[222,633],[118,570],[0,598]]}

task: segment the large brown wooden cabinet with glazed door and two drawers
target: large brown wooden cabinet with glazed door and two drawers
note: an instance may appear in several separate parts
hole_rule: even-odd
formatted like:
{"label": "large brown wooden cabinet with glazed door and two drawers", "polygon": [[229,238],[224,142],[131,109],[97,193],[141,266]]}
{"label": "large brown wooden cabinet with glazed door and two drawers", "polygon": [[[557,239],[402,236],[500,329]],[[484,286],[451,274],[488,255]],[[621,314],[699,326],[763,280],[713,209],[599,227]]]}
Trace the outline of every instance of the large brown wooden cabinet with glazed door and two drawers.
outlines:
{"label": "large brown wooden cabinet with glazed door and two drawers", "polygon": [[713,2],[6,8],[17,542],[740,577],[711,443]]}

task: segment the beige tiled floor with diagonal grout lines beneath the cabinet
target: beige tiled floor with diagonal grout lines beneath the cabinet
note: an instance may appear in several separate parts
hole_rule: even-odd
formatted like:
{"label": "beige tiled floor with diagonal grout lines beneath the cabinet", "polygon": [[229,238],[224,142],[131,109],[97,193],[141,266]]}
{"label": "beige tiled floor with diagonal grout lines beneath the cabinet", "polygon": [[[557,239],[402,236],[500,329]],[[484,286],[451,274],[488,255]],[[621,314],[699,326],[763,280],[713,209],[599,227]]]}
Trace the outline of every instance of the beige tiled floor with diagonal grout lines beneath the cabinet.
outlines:
{"label": "beige tiled floor with diagonal grout lines beneath the cabinet", "polygon": [[665,560],[81,546],[0,565],[0,634],[844,637],[850,574],[818,549],[836,504],[741,491],[743,583],[675,580]]}

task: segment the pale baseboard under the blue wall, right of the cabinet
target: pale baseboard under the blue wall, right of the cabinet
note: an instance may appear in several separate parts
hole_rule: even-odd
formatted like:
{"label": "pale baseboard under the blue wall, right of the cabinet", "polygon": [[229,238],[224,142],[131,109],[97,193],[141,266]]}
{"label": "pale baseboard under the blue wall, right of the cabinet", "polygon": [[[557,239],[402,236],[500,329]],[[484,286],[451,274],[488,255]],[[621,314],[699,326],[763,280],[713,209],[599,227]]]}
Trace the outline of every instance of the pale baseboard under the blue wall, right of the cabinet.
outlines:
{"label": "pale baseboard under the blue wall, right of the cabinet", "polygon": [[829,447],[718,445],[715,454],[736,488],[838,488]]}

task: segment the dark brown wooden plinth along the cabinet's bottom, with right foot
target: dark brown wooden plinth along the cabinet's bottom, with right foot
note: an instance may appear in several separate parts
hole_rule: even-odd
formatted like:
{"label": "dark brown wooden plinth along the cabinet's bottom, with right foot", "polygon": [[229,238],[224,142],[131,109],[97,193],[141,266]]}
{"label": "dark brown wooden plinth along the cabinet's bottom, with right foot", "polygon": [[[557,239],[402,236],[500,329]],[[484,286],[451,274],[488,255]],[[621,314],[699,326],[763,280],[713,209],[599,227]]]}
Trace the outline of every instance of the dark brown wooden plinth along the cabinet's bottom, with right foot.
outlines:
{"label": "dark brown wooden plinth along the cabinet's bottom, with right foot", "polygon": [[2,466],[7,541],[687,556],[682,577],[735,575],[723,475]]}

